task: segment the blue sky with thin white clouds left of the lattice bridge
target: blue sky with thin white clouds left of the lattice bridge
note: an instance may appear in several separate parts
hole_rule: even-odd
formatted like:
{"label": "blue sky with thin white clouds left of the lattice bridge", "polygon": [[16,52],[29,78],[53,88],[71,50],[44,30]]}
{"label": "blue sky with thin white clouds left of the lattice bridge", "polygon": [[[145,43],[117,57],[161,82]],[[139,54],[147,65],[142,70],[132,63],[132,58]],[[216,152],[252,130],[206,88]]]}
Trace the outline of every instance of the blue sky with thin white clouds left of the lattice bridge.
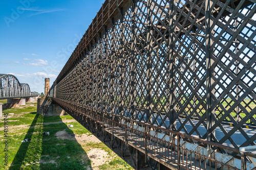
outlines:
{"label": "blue sky with thin white clouds left of the lattice bridge", "polygon": [[[31,91],[52,84],[104,0],[0,1],[0,74]],[[50,84],[50,85],[51,85]]]}

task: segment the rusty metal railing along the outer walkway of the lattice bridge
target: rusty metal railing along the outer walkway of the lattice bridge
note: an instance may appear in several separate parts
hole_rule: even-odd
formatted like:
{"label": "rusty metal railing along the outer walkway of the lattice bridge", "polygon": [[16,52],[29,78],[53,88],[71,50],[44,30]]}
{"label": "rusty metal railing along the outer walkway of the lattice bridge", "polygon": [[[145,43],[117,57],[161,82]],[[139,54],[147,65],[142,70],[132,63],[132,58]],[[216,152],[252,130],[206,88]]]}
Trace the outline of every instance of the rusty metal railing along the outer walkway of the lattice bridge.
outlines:
{"label": "rusty metal railing along the outer walkway of the lattice bridge", "polygon": [[[56,98],[53,100],[69,111],[80,124],[96,133],[97,136],[99,136],[99,131],[96,127],[102,126],[103,141],[104,131],[108,131],[116,137],[122,138],[126,143],[141,149],[145,156],[155,155],[159,160],[172,163],[178,169],[250,169],[249,158],[256,158],[256,154],[241,153],[238,149],[220,143],[139,122],[99,109],[77,107],[71,103],[61,102]],[[112,148],[112,140],[114,139],[111,138],[110,140]],[[191,150],[193,144],[201,146],[201,148]],[[204,150],[205,146],[211,150]],[[236,159],[232,163],[225,163],[222,160],[223,155],[221,155],[223,150],[227,152],[225,155],[236,153],[240,155],[241,159]]]}

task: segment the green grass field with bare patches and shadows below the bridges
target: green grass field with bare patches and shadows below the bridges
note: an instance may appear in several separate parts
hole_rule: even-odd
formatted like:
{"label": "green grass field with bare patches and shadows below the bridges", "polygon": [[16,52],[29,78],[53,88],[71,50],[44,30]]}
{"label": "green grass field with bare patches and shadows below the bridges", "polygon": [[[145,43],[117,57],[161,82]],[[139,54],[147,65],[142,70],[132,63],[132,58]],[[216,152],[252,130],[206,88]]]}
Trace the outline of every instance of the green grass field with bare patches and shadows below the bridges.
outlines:
{"label": "green grass field with bare patches and shadows below the bridges", "polygon": [[[80,145],[75,137],[70,139],[59,139],[55,135],[59,131],[66,131],[70,136],[73,134],[92,135],[86,128],[77,122],[59,123],[63,119],[73,119],[70,115],[44,117],[36,114],[34,106],[5,108],[3,113],[14,113],[8,115],[8,166],[4,165],[4,159],[0,159],[0,169],[87,169],[92,168],[92,162],[87,152],[93,148],[99,148],[108,153],[105,164],[98,166],[100,169],[132,169],[130,165],[117,157],[106,145],[100,143],[82,143]],[[18,120],[12,122],[12,120]],[[45,125],[44,123],[54,123]],[[68,125],[74,125],[69,129]],[[20,125],[19,127],[15,127]],[[21,127],[22,125],[26,125]],[[0,119],[0,128],[4,126]],[[42,135],[50,132],[50,136]],[[3,133],[0,133],[0,142],[4,141]],[[21,142],[31,138],[29,142]],[[4,144],[0,144],[0,157],[4,157]],[[112,160],[113,159],[113,160]],[[54,162],[52,162],[54,161]]]}

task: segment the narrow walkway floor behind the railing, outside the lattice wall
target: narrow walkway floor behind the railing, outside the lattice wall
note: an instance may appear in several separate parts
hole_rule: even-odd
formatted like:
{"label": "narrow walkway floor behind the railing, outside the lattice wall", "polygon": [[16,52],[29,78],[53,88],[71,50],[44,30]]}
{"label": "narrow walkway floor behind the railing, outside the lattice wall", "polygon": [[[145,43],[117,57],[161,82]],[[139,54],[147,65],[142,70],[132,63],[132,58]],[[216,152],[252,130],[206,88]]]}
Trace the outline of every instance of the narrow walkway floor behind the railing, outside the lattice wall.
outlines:
{"label": "narrow walkway floor behind the railing, outside the lattice wall", "polygon": [[[93,117],[90,117],[90,118],[93,119]],[[138,149],[142,153],[145,153],[145,137],[137,130],[130,129],[129,131],[126,131],[126,134],[125,134],[124,126],[120,126],[120,124],[119,126],[117,125],[113,127],[109,124],[104,124],[103,122],[99,122],[99,124],[102,124],[105,127],[104,129],[105,131],[108,131],[109,133],[113,134],[115,137],[118,137],[119,139],[129,143],[129,145],[132,145],[134,148]],[[211,161],[209,161],[210,164],[207,165],[206,162],[209,159],[206,159],[205,156],[200,155],[193,151],[189,151],[182,147],[180,147],[180,153],[178,153],[177,143],[175,144],[175,141],[170,143],[163,142],[163,141],[159,141],[159,139],[154,138],[153,136],[148,138],[146,142],[146,148],[147,148],[146,150],[147,155],[150,155],[153,159],[156,159],[158,161],[161,160],[162,162],[164,162],[164,165],[172,169],[177,169],[177,164],[179,159],[178,154],[180,154],[179,162],[182,169],[196,170],[196,169],[215,169],[215,167],[223,168],[224,166],[231,167],[228,165],[224,165],[221,162],[218,162],[217,160],[214,160],[214,159],[211,159]]]}

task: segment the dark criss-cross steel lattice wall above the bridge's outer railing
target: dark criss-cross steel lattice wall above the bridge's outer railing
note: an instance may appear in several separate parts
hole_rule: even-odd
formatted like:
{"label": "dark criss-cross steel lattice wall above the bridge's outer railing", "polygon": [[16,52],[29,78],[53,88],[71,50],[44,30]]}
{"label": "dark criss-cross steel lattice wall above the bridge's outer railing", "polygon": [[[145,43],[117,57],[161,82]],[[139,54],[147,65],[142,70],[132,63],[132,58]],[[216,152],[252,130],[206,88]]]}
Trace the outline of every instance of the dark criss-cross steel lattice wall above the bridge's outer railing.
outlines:
{"label": "dark criss-cross steel lattice wall above the bridge's outer railing", "polygon": [[255,145],[246,133],[256,124],[255,10],[254,0],[105,1],[54,100],[236,149]]}

